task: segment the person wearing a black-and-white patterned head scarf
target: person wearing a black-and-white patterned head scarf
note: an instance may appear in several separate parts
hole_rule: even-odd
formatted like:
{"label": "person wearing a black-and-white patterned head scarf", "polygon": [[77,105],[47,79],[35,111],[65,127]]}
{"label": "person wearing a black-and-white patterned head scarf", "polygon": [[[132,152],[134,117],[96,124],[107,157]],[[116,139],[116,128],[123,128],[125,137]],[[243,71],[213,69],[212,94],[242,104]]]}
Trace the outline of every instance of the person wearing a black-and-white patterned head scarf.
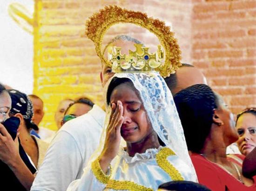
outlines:
{"label": "person wearing a black-and-white patterned head scarf", "polygon": [[7,91],[12,99],[10,116],[20,119],[18,131],[21,145],[38,169],[44,159],[48,143],[30,134],[31,129],[38,130],[37,125],[32,121],[34,115],[32,102],[26,94],[16,89],[8,89]]}

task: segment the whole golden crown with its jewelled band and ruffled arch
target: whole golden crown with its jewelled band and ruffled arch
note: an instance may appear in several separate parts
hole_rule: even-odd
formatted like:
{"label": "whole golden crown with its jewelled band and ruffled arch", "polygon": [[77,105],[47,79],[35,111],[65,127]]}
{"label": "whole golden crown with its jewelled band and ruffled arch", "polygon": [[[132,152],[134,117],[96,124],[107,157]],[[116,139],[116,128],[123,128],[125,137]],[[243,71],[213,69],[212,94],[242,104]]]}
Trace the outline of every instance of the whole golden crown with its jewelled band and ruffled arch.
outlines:
{"label": "whole golden crown with its jewelled band and ruffled arch", "polygon": [[[106,31],[112,25],[118,23],[132,23],[154,33],[160,41],[165,55],[163,55],[161,48],[158,48],[158,51],[151,55],[148,54],[148,48],[135,45],[137,50],[135,52],[129,51],[128,56],[121,55],[120,48],[113,49],[113,51],[116,52],[110,53],[112,57],[108,57],[107,60],[104,57],[104,51],[101,51],[102,39]],[[104,9],[101,9],[98,13],[94,13],[88,19],[86,23],[86,35],[94,42],[95,50],[97,55],[101,58],[101,62],[106,63],[109,67],[114,65],[113,67],[116,67],[115,71],[117,72],[127,71],[127,69],[123,69],[126,67],[130,72],[131,70],[142,71],[139,68],[145,63],[142,67],[143,70],[151,71],[155,69],[156,71],[159,71],[163,77],[166,77],[169,76],[170,73],[174,73],[175,70],[181,66],[181,51],[174,38],[174,33],[170,31],[170,27],[166,26],[164,22],[148,17],[146,13],[128,11],[127,9],[122,9],[118,6],[105,6]],[[129,64],[131,64],[131,66],[129,66]]]}

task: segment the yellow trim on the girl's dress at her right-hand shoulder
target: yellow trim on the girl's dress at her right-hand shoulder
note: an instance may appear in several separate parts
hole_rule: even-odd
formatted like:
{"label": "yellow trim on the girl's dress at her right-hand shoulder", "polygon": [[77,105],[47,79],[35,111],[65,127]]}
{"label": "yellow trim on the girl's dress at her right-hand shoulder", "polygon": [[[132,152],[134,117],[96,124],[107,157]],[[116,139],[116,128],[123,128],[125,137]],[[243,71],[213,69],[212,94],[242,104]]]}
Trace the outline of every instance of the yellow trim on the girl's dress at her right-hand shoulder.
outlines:
{"label": "yellow trim on the girl's dress at her right-hand shoulder", "polygon": [[181,173],[171,165],[167,157],[170,155],[175,155],[175,153],[170,148],[162,148],[159,153],[156,155],[157,164],[168,173],[168,175],[172,178],[172,180],[184,180]]}

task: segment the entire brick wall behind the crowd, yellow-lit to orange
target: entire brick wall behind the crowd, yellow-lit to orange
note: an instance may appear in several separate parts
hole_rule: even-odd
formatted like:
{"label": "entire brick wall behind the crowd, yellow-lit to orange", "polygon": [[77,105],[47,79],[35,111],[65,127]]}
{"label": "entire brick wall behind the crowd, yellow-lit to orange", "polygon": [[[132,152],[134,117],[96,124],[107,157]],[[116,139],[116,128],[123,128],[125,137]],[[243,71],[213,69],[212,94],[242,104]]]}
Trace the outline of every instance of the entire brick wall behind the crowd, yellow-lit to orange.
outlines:
{"label": "entire brick wall behind the crowd, yellow-lit to orange", "polygon": [[[54,112],[63,98],[89,94],[102,103],[101,64],[93,43],[84,36],[84,23],[109,4],[164,20],[175,32],[182,62],[202,69],[209,84],[233,104],[233,111],[252,105],[256,92],[255,2],[35,0],[34,94],[42,97],[46,113],[40,125],[56,128]],[[115,32],[108,35],[111,38]]]}

